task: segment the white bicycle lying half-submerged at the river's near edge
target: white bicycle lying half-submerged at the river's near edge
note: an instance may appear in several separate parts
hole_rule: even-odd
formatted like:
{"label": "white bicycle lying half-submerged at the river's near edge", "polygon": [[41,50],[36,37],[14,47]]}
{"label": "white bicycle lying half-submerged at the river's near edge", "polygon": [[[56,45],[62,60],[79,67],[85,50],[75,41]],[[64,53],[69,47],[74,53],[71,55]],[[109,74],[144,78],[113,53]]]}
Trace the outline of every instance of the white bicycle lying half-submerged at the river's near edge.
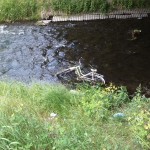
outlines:
{"label": "white bicycle lying half-submerged at the river's near edge", "polygon": [[81,70],[80,60],[79,60],[79,65],[75,65],[73,67],[64,69],[61,72],[56,73],[56,76],[58,78],[65,78],[67,74],[70,74],[72,72],[74,72],[75,75],[77,76],[77,80],[88,81],[92,83],[101,82],[102,84],[105,84],[104,76],[101,74],[98,74],[97,69],[92,68],[90,72],[86,74],[83,73],[83,71]]}

